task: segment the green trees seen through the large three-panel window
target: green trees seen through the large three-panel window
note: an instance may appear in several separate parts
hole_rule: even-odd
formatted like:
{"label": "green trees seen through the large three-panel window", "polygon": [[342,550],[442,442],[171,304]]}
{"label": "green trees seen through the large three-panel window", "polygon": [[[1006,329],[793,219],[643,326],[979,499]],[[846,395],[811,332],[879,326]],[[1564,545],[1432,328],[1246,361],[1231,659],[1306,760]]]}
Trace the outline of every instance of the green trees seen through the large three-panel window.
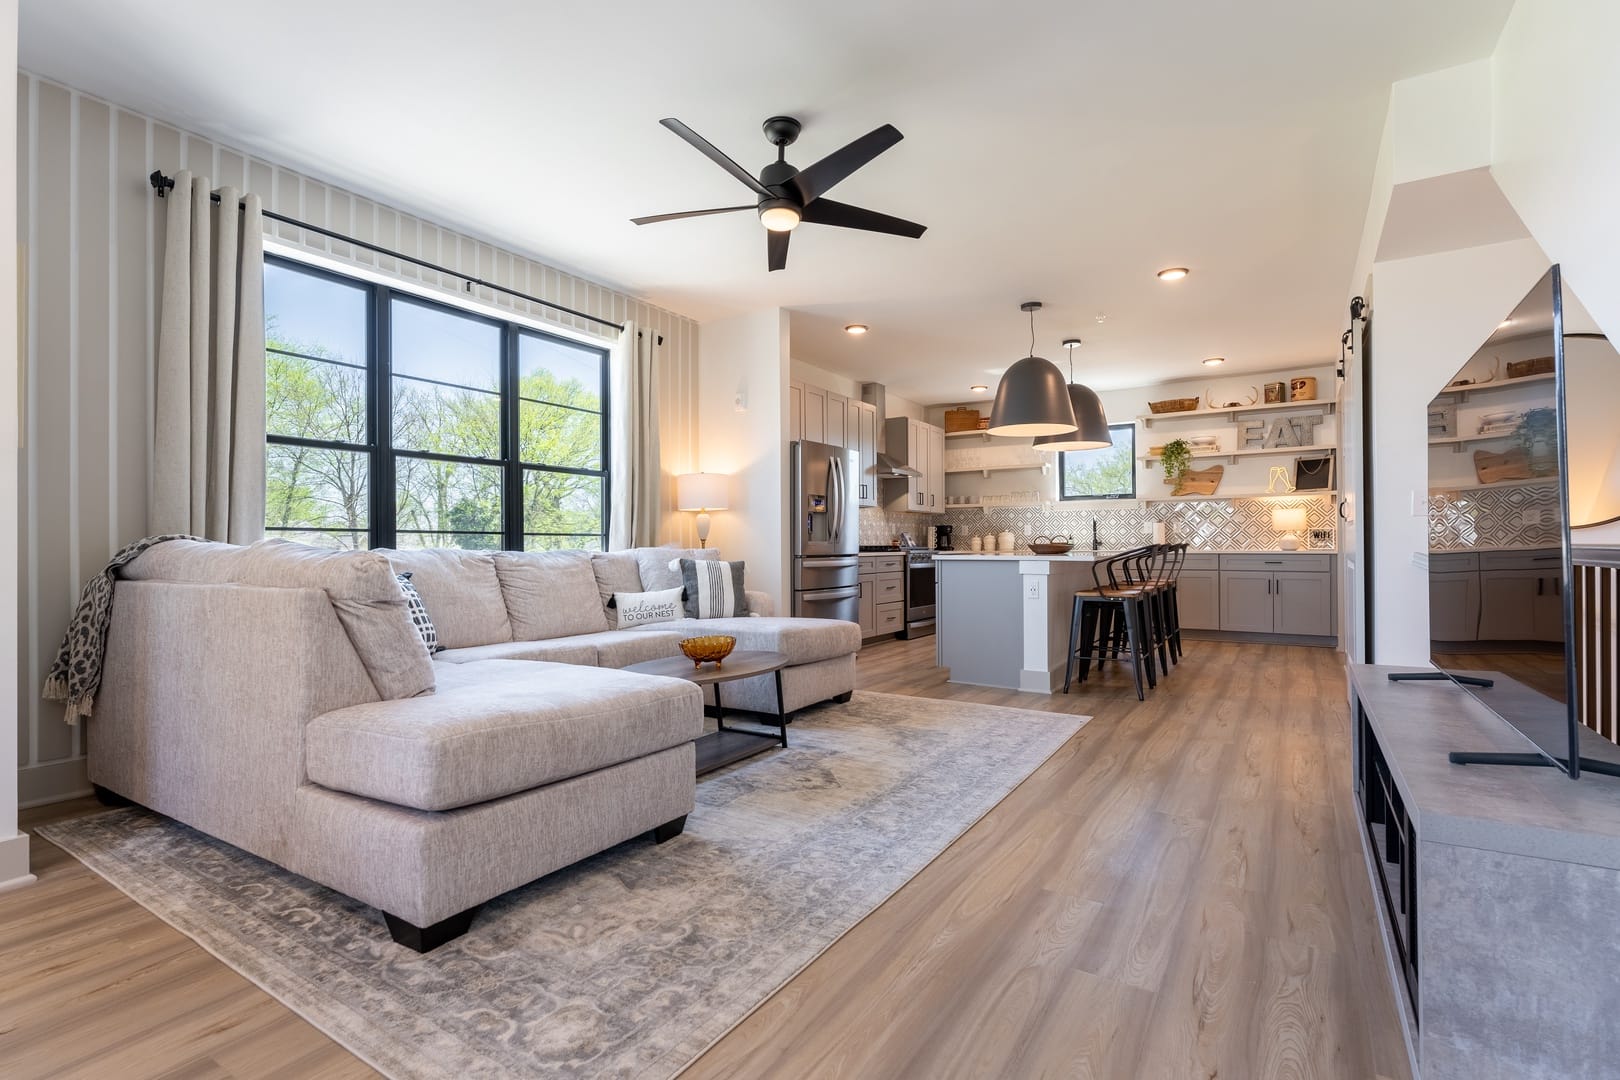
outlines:
{"label": "green trees seen through the large three-panel window", "polygon": [[[272,436],[364,445],[366,376],[308,356],[335,359],[321,345],[288,342],[266,329],[266,427]],[[287,356],[282,351],[303,353]],[[501,457],[501,398],[395,379],[394,445],[424,453]],[[494,390],[494,387],[489,387]],[[525,463],[601,468],[601,393],[578,379],[535,369],[518,382],[518,452]],[[572,408],[564,408],[572,406]],[[591,411],[578,411],[591,410]],[[363,452],[269,445],[264,523],[311,544],[364,547],[368,457]],[[395,515],[400,547],[501,547],[502,470],[491,465],[395,457]],[[544,470],[523,471],[523,531],[528,547],[599,546],[601,479]],[[413,531],[420,529],[420,531]]]}

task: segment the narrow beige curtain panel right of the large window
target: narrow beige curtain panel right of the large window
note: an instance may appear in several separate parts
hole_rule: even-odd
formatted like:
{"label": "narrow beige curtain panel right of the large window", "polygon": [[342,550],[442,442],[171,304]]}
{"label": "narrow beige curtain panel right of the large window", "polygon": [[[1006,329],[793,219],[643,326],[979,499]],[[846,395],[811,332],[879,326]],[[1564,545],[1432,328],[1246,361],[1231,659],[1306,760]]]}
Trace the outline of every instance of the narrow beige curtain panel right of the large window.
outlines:
{"label": "narrow beige curtain panel right of the large window", "polygon": [[612,364],[609,551],[656,544],[664,517],[664,474],[658,458],[656,337],[651,330],[637,330],[635,322],[625,322],[609,361]]}

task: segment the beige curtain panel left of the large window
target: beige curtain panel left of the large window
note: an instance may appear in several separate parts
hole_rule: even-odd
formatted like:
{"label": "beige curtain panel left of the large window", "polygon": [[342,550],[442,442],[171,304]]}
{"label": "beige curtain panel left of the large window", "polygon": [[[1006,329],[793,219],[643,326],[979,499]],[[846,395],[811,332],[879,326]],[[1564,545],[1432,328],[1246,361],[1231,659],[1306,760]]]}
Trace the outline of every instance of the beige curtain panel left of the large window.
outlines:
{"label": "beige curtain panel left of the large window", "polygon": [[[151,534],[264,534],[264,219],[181,172],[168,193]],[[241,209],[238,209],[238,202]]]}

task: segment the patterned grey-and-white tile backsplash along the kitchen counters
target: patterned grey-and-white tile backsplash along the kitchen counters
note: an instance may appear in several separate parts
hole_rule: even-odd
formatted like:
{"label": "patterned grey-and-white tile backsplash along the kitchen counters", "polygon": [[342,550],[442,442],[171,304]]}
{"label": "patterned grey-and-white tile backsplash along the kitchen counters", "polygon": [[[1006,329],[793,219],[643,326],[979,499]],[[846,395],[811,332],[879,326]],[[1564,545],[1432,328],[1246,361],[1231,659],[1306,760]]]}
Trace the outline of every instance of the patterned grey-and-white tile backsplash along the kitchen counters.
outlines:
{"label": "patterned grey-and-white tile backsplash along the kitchen counters", "polygon": [[[954,544],[957,551],[967,551],[974,536],[985,533],[1011,531],[1019,542],[1027,542],[1034,536],[1066,534],[1076,544],[1090,544],[1092,520],[1097,520],[1097,534],[1103,547],[1132,547],[1150,539],[1144,526],[1163,521],[1166,536],[1171,541],[1186,541],[1194,551],[1277,551],[1281,536],[1272,528],[1273,507],[1304,507],[1307,528],[1312,533],[1325,533],[1325,542],[1317,547],[1332,547],[1335,539],[1336,510],[1333,502],[1322,495],[1272,499],[1192,499],[1186,502],[1123,502],[1123,504],[1089,504],[1085,507],[1059,507],[1043,504],[1038,507],[990,507],[946,510],[943,515],[904,513],[888,510],[860,512],[860,542],[886,544],[906,529],[919,541],[928,536],[930,525],[951,525],[956,528]],[[1309,547],[1302,536],[1301,547]]]}

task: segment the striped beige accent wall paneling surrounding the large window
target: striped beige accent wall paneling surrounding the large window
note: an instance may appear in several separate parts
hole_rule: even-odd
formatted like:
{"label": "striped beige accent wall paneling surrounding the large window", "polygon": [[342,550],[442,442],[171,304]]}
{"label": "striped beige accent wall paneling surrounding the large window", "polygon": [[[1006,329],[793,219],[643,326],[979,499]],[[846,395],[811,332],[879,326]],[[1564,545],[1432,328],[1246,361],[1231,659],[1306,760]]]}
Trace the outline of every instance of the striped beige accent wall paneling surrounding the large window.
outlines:
{"label": "striped beige accent wall paneling surrounding the large window", "polygon": [[[147,175],[190,168],[254,191],[264,207],[463,270],[578,311],[661,334],[664,534],[692,546],[672,476],[697,468],[698,327],[395,207],[373,202],[28,73],[18,76],[18,240],[23,244],[24,447],[19,476],[18,761],[24,806],[87,789],[81,733],[39,698],[86,576],[146,534],[147,447],[165,202]],[[460,303],[548,325],[601,329],[352,244],[271,223],[267,240],[369,267]],[[616,334],[609,330],[609,334]]]}

